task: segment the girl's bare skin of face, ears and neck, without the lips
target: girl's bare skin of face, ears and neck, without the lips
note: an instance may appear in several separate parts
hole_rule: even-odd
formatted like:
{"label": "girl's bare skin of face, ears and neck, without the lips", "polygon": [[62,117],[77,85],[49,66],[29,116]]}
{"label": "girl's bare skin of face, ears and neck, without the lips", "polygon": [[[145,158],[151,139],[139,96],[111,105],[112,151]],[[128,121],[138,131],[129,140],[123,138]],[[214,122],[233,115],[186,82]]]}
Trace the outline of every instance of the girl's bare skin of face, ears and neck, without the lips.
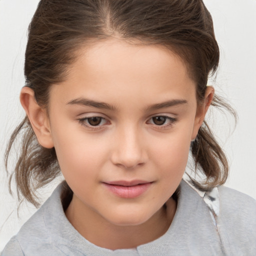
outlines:
{"label": "girl's bare skin of face, ears and neck, without the lips", "polygon": [[[207,87],[198,104],[185,64],[159,45],[111,39],[78,53],[67,79],[51,86],[48,116],[27,87],[21,104],[38,142],[55,147],[73,191],[65,214],[74,228],[101,247],[135,247],[161,236],[171,224],[176,210],[171,195],[213,88]],[[86,119],[93,116],[101,117],[94,126]],[[134,198],[105,186],[137,179],[150,184]]]}

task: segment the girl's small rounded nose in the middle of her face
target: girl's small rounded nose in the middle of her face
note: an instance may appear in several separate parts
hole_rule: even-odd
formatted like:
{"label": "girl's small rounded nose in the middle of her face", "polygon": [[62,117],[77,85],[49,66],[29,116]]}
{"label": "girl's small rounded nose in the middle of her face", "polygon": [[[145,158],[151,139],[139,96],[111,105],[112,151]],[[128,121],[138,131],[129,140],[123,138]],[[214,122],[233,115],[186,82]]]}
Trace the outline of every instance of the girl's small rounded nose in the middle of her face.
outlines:
{"label": "girl's small rounded nose in the middle of her face", "polygon": [[117,132],[113,145],[111,161],[119,167],[133,169],[147,161],[143,137],[135,127],[126,127]]}

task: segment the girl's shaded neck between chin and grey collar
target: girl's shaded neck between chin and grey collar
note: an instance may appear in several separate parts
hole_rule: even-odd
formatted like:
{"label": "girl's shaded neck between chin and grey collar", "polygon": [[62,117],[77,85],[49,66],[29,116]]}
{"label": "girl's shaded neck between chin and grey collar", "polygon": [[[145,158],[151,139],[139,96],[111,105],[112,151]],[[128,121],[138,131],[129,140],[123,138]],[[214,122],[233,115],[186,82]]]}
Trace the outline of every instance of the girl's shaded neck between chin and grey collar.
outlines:
{"label": "girl's shaded neck between chin and grey collar", "polygon": [[171,224],[176,201],[167,202],[148,220],[138,225],[116,225],[79,205],[73,196],[65,214],[73,227],[91,243],[108,249],[134,248],[163,235]]}

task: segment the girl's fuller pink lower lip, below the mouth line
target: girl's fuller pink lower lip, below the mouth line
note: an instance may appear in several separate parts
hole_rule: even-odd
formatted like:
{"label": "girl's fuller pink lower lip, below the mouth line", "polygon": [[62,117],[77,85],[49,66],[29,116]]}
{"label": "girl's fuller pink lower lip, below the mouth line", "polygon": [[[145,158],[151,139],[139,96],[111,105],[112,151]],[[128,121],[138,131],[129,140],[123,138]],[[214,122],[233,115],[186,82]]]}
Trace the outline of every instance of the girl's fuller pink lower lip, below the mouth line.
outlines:
{"label": "girl's fuller pink lower lip, below the mouth line", "polygon": [[137,184],[134,186],[121,186],[114,184],[103,183],[108,190],[110,190],[113,194],[122,197],[122,198],[135,198],[143,194],[152,182]]}

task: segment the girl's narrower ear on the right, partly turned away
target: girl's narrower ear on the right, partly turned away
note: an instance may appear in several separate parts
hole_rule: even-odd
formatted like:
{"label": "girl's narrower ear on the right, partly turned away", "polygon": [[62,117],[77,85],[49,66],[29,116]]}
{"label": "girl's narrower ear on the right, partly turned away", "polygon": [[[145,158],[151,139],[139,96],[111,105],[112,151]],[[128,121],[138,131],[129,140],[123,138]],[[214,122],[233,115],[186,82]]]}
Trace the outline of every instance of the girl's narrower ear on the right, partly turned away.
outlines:
{"label": "girl's narrower ear on the right, partly turned away", "polygon": [[212,86],[207,86],[206,90],[205,90],[203,102],[201,102],[197,105],[191,140],[195,139],[195,137],[198,133],[198,130],[202,125],[205,114],[211,104],[213,96],[214,96],[214,88]]}

